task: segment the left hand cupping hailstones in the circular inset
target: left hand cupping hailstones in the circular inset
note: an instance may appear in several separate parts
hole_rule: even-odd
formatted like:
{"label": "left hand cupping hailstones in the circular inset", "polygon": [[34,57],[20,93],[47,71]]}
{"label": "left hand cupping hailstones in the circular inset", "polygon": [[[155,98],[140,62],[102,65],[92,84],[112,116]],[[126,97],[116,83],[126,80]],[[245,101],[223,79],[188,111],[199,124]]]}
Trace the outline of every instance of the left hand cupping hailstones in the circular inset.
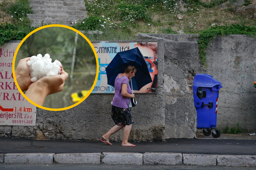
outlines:
{"label": "left hand cupping hailstones in the circular inset", "polygon": [[29,59],[30,57],[21,59],[15,70],[15,77],[21,91],[26,91],[28,86],[32,83],[27,64]]}

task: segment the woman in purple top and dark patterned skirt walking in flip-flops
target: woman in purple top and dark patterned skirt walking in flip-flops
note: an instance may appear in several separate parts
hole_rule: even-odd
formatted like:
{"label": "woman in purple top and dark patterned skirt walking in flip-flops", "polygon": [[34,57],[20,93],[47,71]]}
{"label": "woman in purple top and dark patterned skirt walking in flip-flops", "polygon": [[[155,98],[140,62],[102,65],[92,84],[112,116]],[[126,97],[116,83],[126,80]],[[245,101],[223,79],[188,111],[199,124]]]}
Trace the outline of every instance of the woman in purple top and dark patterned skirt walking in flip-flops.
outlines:
{"label": "woman in purple top and dark patterned skirt walking in flip-flops", "polygon": [[135,95],[132,94],[129,81],[132,77],[134,77],[135,73],[136,68],[134,66],[128,66],[126,67],[124,73],[120,73],[116,76],[115,96],[111,111],[111,117],[116,125],[102,136],[104,141],[100,139],[101,142],[112,145],[112,143],[109,142],[109,137],[120,129],[124,128],[122,146],[136,146],[134,144],[128,143],[128,137],[130,135],[133,123],[131,113],[128,109],[128,104],[130,98],[135,98]]}

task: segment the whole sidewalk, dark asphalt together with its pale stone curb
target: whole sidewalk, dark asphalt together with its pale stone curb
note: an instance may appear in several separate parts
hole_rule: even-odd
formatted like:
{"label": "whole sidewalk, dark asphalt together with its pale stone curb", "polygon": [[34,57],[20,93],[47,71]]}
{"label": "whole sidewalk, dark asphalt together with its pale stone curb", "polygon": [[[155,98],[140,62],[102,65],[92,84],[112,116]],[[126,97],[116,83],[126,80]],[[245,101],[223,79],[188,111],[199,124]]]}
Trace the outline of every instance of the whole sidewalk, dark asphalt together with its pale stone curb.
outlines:
{"label": "whole sidewalk, dark asphalt together with its pale stone curb", "polygon": [[134,142],[136,147],[122,147],[120,142],[110,146],[92,141],[10,137],[0,137],[0,143],[0,162],[4,163],[256,166],[256,136],[246,134]]}

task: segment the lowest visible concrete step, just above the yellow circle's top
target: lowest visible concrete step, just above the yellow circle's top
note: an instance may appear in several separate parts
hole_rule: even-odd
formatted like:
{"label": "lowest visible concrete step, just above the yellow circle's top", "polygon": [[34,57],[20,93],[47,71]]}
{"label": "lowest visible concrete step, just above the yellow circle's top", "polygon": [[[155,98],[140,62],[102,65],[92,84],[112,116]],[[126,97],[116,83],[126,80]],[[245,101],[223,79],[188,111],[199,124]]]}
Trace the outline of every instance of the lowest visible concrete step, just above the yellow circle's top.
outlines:
{"label": "lowest visible concrete step, just above the yellow circle's top", "polygon": [[[75,20],[76,22],[81,22],[78,19],[51,19],[51,18],[47,18],[47,19],[31,19],[32,20],[32,24],[62,24],[62,25],[75,25]],[[72,24],[73,22],[73,24]]]}

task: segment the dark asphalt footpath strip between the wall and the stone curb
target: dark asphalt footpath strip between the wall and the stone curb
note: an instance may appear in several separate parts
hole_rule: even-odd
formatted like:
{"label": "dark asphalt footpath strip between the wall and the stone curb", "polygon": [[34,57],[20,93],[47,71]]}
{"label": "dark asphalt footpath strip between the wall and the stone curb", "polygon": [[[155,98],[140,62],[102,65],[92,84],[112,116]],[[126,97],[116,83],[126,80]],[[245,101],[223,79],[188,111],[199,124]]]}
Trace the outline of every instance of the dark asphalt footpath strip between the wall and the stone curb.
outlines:
{"label": "dark asphalt footpath strip between the wall and the stone curb", "polygon": [[135,142],[122,147],[91,141],[35,140],[0,137],[0,153],[176,152],[219,155],[256,155],[256,140],[167,139],[166,142]]}

